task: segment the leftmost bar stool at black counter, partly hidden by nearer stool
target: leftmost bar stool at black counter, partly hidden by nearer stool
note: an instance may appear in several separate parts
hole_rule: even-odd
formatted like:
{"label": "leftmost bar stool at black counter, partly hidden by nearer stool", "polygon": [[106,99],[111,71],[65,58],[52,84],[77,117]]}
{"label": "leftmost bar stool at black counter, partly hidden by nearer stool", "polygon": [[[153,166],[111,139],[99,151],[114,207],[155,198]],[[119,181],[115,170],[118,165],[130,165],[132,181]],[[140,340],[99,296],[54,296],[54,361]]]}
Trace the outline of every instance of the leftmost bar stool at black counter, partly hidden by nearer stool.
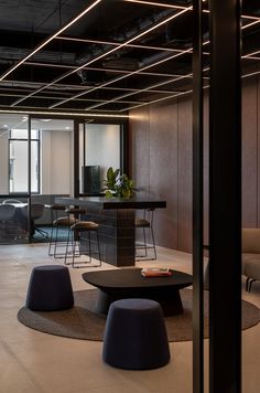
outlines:
{"label": "leftmost bar stool at black counter, partly hidden by nearer stool", "polygon": [[[63,258],[66,254],[69,229],[73,224],[79,220],[80,214],[85,214],[85,209],[79,208],[67,208],[65,205],[54,204],[52,206],[53,211],[56,213],[56,220],[53,222],[51,240],[48,244],[48,255],[54,256],[54,258]],[[65,211],[66,216],[57,217],[58,211]],[[58,236],[62,230],[66,230],[66,240],[58,241]],[[57,248],[63,248],[62,252],[58,252]],[[65,249],[64,249],[65,248]]]}

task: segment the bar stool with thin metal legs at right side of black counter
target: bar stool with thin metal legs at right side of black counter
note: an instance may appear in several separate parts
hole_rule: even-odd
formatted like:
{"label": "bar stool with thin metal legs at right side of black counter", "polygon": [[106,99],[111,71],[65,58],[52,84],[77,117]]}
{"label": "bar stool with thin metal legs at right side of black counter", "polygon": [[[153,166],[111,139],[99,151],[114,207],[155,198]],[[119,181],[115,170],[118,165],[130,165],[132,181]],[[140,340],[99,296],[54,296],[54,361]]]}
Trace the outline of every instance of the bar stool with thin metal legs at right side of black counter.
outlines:
{"label": "bar stool with thin metal legs at right side of black counter", "polygon": [[[136,230],[142,230],[142,243],[136,243],[136,261],[154,261],[156,259],[156,246],[154,241],[154,233],[153,233],[153,213],[154,209],[144,209],[142,217],[136,217],[134,220],[134,227]],[[150,231],[152,244],[147,242],[147,236]],[[137,231],[136,231],[137,232]],[[143,251],[143,253],[138,253],[138,249]],[[153,255],[149,256],[148,249],[152,249]]]}

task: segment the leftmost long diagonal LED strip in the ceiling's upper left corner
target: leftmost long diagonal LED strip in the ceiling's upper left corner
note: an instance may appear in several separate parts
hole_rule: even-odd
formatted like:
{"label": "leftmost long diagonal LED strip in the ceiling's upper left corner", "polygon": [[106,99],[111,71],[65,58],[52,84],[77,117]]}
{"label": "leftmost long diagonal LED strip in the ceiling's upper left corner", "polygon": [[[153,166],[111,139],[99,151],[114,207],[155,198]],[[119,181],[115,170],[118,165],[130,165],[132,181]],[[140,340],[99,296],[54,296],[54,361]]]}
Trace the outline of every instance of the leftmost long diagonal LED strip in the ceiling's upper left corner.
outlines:
{"label": "leftmost long diagonal LED strip in the ceiling's upper left corner", "polygon": [[83,12],[80,12],[76,18],[65,24],[62,29],[59,29],[55,34],[51,35],[47,40],[43,41],[39,46],[34,49],[34,51],[30,52],[25,57],[23,57],[20,62],[18,62],[13,67],[9,68],[1,77],[0,82],[4,79],[9,74],[11,74],[14,70],[17,70],[21,64],[23,64],[26,60],[32,57],[36,52],[46,46],[52,40],[54,40],[58,34],[63,33],[71,25],[77,22],[80,18],[83,18],[86,13],[88,13],[94,7],[96,7],[101,0],[96,0],[91,6],[87,7]]}

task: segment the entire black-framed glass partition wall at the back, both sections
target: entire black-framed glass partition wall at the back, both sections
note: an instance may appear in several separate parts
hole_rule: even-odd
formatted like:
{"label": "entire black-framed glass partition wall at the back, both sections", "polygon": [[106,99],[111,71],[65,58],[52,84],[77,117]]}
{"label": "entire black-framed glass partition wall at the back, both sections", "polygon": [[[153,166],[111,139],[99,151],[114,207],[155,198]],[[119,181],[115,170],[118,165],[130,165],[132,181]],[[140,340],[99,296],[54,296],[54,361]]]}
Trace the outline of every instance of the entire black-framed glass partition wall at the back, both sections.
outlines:
{"label": "entire black-framed glass partition wall at the back, both sections", "polygon": [[0,244],[48,242],[55,197],[102,194],[122,146],[120,124],[0,115]]}

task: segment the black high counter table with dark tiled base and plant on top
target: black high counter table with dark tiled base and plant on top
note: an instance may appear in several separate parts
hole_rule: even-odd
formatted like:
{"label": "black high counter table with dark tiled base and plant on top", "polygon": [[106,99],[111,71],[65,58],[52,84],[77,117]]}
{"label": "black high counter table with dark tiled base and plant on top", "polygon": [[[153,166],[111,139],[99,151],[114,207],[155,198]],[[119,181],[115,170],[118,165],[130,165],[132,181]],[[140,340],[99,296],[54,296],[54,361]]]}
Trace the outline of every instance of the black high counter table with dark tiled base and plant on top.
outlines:
{"label": "black high counter table with dark tiled base and plant on top", "polygon": [[58,197],[56,203],[84,206],[86,220],[100,224],[101,259],[115,266],[134,265],[134,215],[139,209],[163,209],[166,201],[134,197],[131,199],[106,197]]}

